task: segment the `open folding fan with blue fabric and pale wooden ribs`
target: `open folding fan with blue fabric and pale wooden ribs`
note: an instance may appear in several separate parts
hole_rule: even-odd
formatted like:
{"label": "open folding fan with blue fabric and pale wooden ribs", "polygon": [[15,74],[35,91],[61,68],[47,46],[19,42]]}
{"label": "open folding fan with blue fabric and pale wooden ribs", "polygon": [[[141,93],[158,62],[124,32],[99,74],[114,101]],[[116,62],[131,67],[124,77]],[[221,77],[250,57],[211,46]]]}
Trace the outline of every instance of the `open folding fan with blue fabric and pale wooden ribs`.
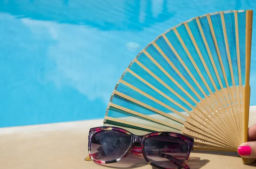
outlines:
{"label": "open folding fan with blue fabric and pale wooden ribs", "polygon": [[158,36],[117,82],[104,125],[178,132],[195,138],[195,150],[237,152],[247,141],[252,17],[205,14]]}

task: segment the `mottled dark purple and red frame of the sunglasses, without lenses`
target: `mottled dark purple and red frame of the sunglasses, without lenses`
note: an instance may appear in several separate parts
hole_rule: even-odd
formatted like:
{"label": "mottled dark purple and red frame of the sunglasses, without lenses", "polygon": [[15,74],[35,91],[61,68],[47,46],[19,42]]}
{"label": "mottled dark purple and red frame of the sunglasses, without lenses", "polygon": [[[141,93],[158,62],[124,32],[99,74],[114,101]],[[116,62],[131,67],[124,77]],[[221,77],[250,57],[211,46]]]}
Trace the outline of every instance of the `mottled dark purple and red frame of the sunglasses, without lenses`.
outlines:
{"label": "mottled dark purple and red frame of the sunglasses, without lenses", "polygon": [[[118,132],[122,132],[122,133],[125,133],[125,134],[129,135],[131,137],[131,143],[130,143],[127,151],[125,152],[125,154],[122,155],[120,158],[118,158],[116,160],[112,160],[112,161],[99,161],[99,160],[96,160],[91,155],[91,149],[90,149],[93,136],[96,135],[96,133],[98,133],[98,132],[109,131],[109,130],[118,131]],[[187,166],[186,163],[187,163],[187,161],[189,159],[190,152],[191,152],[191,150],[194,147],[194,138],[191,138],[189,136],[182,135],[182,134],[179,134],[179,133],[175,133],[175,132],[151,132],[151,133],[148,133],[146,135],[134,135],[133,133],[131,133],[131,132],[127,131],[127,130],[124,130],[122,128],[119,128],[119,127],[107,127],[107,126],[93,127],[93,128],[90,129],[89,136],[88,136],[88,139],[89,139],[89,142],[88,142],[89,156],[90,156],[91,160],[93,160],[96,163],[115,163],[117,161],[120,161],[120,160],[124,159],[125,157],[127,157],[129,155],[129,153],[131,152],[131,149],[132,149],[134,143],[139,143],[141,145],[143,157],[145,158],[145,161],[147,161],[148,164],[150,164],[151,166],[155,166],[155,167],[157,167],[159,169],[170,169],[170,168],[164,168],[164,167],[161,167],[161,166],[157,166],[156,164],[152,163],[146,157],[146,155],[145,155],[145,151],[144,151],[145,139],[153,137],[153,136],[156,136],[156,135],[168,135],[168,136],[172,136],[172,137],[175,137],[175,138],[179,138],[180,140],[184,141],[187,144],[188,152],[187,152],[187,155],[186,155],[186,160],[183,162],[182,166],[180,166],[180,167],[178,167],[176,169],[181,169],[183,167],[185,169],[189,169],[189,166]]]}

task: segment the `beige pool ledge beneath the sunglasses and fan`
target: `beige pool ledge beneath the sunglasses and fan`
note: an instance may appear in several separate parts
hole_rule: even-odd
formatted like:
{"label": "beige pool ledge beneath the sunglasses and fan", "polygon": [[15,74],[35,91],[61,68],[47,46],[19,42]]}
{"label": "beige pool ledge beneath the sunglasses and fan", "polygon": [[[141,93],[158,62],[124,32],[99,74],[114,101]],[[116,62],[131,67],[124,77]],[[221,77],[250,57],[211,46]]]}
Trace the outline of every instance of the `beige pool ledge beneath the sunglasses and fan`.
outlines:
{"label": "beige pool ledge beneath the sunglasses and fan", "polygon": [[[0,169],[155,169],[141,156],[100,166],[84,161],[88,130],[102,119],[24,127],[0,128]],[[256,123],[256,106],[250,108],[249,127]],[[251,169],[236,153],[191,153],[191,169]]]}

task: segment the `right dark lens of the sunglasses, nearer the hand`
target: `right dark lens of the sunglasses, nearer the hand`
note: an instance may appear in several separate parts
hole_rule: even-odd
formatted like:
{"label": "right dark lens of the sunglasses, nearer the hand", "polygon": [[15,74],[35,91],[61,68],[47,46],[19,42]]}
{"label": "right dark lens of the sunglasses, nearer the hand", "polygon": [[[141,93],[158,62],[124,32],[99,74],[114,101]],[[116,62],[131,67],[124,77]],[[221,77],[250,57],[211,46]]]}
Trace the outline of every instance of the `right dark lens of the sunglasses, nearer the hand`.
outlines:
{"label": "right dark lens of the sunglasses, nearer the hand", "polygon": [[151,163],[169,169],[183,167],[188,146],[185,141],[168,135],[156,135],[146,138],[145,155]]}

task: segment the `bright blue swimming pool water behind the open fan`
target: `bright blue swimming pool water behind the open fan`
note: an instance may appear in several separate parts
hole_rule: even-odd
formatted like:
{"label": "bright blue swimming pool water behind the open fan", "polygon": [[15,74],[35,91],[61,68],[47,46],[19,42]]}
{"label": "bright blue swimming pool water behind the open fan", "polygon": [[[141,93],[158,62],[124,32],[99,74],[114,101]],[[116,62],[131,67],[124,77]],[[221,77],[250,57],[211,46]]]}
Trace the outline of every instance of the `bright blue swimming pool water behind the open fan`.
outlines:
{"label": "bright blue swimming pool water behind the open fan", "polygon": [[[0,127],[104,118],[116,82],[159,34],[251,0],[0,0]],[[252,46],[256,46],[253,27]],[[252,48],[251,102],[256,105]]]}

